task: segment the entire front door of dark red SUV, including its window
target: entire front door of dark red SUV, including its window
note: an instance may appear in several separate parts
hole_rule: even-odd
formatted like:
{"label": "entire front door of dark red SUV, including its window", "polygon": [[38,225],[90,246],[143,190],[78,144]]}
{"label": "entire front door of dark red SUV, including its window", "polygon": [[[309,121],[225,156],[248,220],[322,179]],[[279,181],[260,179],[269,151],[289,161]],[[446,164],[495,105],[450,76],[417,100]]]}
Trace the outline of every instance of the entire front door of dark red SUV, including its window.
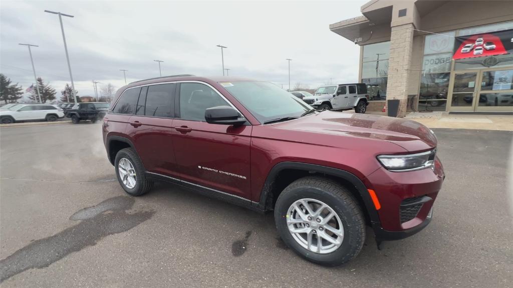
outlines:
{"label": "entire front door of dark red SUV, including its window", "polygon": [[252,127],[205,122],[205,109],[229,105],[210,86],[181,83],[178,90],[173,121],[176,177],[249,199]]}

